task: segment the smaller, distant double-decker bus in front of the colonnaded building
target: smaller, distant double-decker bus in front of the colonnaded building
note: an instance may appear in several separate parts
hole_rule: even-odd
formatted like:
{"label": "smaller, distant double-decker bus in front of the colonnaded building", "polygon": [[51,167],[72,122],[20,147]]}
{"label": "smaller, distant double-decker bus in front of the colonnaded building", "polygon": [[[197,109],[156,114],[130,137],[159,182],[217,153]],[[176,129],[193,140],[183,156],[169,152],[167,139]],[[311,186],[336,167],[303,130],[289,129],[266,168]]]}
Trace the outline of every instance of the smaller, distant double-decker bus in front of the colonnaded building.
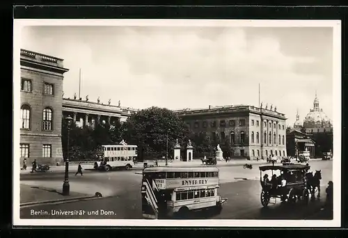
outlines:
{"label": "smaller, distant double-decker bus in front of the colonnaded building", "polygon": [[128,170],[136,160],[137,148],[137,145],[100,145],[102,156],[94,163],[94,168],[109,171],[124,167]]}

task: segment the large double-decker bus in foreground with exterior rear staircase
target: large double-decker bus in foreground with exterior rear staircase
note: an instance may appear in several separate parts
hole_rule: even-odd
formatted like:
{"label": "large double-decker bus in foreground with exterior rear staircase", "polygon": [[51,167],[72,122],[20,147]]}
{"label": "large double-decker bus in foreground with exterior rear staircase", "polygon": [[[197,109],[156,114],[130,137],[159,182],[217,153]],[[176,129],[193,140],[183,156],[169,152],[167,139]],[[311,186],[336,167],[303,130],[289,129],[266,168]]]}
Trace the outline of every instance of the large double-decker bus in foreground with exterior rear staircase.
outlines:
{"label": "large double-decker bus in foreground with exterior rear staircase", "polygon": [[190,211],[216,209],[221,212],[226,198],[218,195],[216,167],[148,167],[141,185],[144,219],[187,217]]}

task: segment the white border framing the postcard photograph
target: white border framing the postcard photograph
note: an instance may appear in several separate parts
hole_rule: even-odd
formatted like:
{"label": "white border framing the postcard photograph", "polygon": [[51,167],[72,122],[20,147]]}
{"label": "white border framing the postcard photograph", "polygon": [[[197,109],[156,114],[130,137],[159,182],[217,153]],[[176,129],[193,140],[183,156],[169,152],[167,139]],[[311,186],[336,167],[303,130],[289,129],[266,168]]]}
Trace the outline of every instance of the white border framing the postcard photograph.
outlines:
{"label": "white border framing the postcard photograph", "polygon": [[[339,227],[341,207],[341,22],[340,20],[247,19],[14,19],[13,125],[20,125],[20,39],[25,26],[230,26],[230,27],[333,27],[333,220],[136,220],[136,219],[20,219],[19,127],[13,126],[13,225],[65,226],[173,226],[173,227]],[[204,222],[203,222],[204,221]]]}

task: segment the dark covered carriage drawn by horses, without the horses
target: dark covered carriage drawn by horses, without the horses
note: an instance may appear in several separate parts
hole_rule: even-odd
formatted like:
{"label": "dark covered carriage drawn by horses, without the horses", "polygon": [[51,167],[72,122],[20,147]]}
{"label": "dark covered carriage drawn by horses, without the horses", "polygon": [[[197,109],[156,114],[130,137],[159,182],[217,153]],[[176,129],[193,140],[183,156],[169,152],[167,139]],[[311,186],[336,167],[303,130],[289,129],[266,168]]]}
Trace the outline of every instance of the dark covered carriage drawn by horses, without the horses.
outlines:
{"label": "dark covered carriage drawn by horses, without the horses", "polygon": [[[282,166],[260,166],[261,182],[261,204],[264,207],[269,205],[271,198],[280,198],[282,202],[295,203],[297,200],[308,204],[309,192],[306,173],[310,166],[303,164],[283,164]],[[262,172],[269,170],[271,180],[266,173],[262,177]],[[277,176],[276,173],[279,173]]]}

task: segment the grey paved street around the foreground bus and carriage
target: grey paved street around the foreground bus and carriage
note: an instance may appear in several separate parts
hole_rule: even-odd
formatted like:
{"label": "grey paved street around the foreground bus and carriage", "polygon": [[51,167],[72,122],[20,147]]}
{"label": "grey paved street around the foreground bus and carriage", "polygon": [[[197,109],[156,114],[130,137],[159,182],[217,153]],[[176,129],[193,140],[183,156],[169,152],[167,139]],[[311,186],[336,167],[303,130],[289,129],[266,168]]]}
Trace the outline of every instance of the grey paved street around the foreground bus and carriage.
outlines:
{"label": "grey paved street around the foreground bus and carriage", "polygon": [[[275,205],[263,208],[260,203],[260,170],[254,166],[252,170],[242,166],[226,166],[219,168],[221,189],[223,198],[228,202],[223,207],[221,214],[214,219],[315,219],[315,213],[322,207],[325,198],[327,182],[332,180],[332,161],[311,161],[312,170],[322,170],[322,200],[311,201],[308,206],[301,204],[280,204],[277,200]],[[110,173],[90,172],[83,177],[70,175],[70,189],[74,192],[93,195],[100,192],[104,198],[85,200],[75,203],[57,205],[38,205],[21,209],[22,219],[141,219],[141,194],[139,192],[141,171],[112,171]],[[246,179],[246,180],[245,180]],[[21,175],[21,184],[31,186],[61,188],[63,176],[61,173],[27,174]],[[84,214],[66,216],[54,215],[51,211],[74,211],[81,210]],[[113,214],[101,214],[101,212]],[[45,211],[47,214],[37,216],[31,212]],[[99,214],[91,214],[98,211]],[[90,213],[90,214],[88,214]],[[207,217],[206,214],[196,212],[195,219]],[[321,218],[323,219],[323,218]]]}

